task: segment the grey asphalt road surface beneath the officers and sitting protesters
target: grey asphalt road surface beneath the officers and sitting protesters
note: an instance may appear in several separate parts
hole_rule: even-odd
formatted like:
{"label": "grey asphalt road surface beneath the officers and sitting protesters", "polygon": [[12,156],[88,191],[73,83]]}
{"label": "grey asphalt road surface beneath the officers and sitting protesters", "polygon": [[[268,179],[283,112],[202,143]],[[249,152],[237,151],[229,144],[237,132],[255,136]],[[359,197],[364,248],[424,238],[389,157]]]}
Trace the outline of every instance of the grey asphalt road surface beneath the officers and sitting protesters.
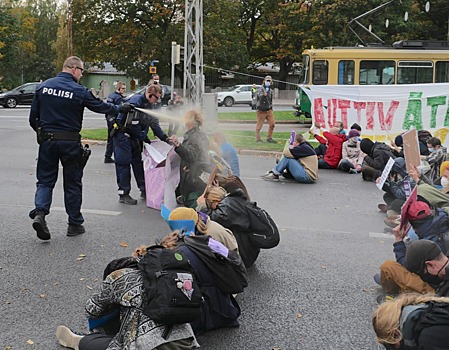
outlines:
{"label": "grey asphalt road surface beneath the officers and sitting protesters", "polygon": [[[106,264],[169,231],[143,201],[118,203],[114,165],[102,162],[104,146],[92,145],[83,181],[87,232],[65,235],[60,179],[47,217],[52,239],[37,239],[28,217],[37,144],[20,110],[0,108],[0,349],[56,350],[59,324],[86,329],[84,303]],[[273,164],[240,157],[242,180],[278,224],[281,243],[249,269],[249,286],[237,297],[240,327],[199,336],[202,349],[377,349],[370,315],[379,290],[372,276],[394,257],[377,210],[382,193],[334,170],[321,171],[313,185],[262,180]]]}

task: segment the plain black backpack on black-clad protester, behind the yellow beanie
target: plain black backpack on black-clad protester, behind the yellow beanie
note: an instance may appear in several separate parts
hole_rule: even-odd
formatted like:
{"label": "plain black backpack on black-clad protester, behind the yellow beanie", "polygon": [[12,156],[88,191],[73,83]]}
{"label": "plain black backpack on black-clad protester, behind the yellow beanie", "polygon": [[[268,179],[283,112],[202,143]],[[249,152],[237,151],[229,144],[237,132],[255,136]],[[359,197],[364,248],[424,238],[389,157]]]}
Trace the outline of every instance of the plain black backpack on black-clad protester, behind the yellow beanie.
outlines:
{"label": "plain black backpack on black-clad protester, behind the yellow beanie", "polygon": [[248,215],[250,240],[262,249],[274,248],[279,244],[280,236],[276,223],[264,209],[259,208],[256,202],[245,203]]}

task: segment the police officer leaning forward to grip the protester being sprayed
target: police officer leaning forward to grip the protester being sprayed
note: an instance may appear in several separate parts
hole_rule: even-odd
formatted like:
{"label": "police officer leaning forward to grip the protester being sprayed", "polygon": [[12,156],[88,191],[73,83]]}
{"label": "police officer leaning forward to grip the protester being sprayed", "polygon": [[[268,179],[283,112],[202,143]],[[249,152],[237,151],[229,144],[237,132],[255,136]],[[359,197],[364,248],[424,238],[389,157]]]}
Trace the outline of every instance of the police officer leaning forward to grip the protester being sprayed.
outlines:
{"label": "police officer leaning forward to grip the protester being sprayed", "polygon": [[[150,85],[143,95],[134,95],[127,102],[143,109],[157,109],[161,97],[160,85]],[[162,141],[170,143],[171,140],[161,129],[159,119],[155,116],[134,110],[130,113],[120,113],[117,117],[118,130],[113,137],[115,170],[119,202],[124,204],[137,204],[137,200],[129,195],[131,191],[131,167],[140,197],[145,199],[145,177],[142,163],[142,142],[150,143],[148,130],[151,128],[154,135]]]}

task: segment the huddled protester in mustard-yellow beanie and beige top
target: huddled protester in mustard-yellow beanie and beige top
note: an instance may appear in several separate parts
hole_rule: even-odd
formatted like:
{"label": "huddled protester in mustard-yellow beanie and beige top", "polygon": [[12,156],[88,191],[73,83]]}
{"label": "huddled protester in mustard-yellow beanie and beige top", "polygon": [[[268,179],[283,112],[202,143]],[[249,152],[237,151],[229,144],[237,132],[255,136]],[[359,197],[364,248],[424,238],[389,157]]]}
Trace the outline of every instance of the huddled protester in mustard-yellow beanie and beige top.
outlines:
{"label": "huddled protester in mustard-yellow beanie and beige top", "polygon": [[195,234],[209,235],[223,244],[229,250],[238,252],[237,240],[231,230],[212,221],[208,215],[197,212],[192,208],[176,208],[170,213],[170,220],[193,220],[195,223]]}

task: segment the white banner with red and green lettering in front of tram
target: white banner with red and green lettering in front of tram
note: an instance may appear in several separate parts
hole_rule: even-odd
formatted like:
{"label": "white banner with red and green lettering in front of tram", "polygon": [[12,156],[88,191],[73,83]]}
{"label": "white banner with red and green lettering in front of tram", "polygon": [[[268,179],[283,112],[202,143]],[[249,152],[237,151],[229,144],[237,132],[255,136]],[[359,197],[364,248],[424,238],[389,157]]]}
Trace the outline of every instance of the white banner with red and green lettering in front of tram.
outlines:
{"label": "white banner with red and green lettering in front of tram", "polygon": [[429,130],[449,145],[449,84],[307,85],[314,122],[331,127],[337,120],[346,129],[353,123],[362,136],[388,141],[410,130]]}

